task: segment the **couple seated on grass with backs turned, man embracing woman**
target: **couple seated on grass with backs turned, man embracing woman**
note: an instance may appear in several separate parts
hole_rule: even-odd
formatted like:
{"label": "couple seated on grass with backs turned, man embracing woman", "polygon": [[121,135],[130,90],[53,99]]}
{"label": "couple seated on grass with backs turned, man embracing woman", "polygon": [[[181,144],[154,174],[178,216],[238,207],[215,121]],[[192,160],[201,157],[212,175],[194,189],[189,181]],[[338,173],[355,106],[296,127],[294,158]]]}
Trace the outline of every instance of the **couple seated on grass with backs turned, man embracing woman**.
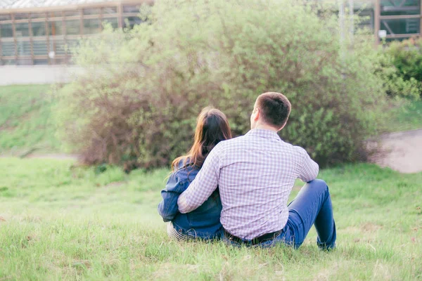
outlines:
{"label": "couple seated on grass with backs turned, man embracing woman", "polygon": [[[158,211],[177,240],[223,240],[236,246],[300,247],[312,225],[320,249],[335,247],[328,187],[319,166],[298,146],[281,140],[290,102],[281,93],[258,96],[251,130],[231,138],[223,112],[206,107],[188,155],[172,164]],[[306,182],[293,202],[295,180]]]}

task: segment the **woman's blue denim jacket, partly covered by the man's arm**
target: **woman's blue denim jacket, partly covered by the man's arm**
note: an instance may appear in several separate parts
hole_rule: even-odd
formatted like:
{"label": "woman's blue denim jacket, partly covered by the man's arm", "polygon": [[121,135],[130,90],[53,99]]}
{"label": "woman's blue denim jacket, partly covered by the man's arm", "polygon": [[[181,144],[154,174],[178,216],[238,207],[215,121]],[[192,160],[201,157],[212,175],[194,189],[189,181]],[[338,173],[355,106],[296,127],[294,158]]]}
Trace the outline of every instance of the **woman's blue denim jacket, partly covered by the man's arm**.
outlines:
{"label": "woman's blue denim jacket, partly covered by the man's arm", "polygon": [[165,189],[161,191],[162,201],[158,204],[158,213],[164,221],[172,221],[174,229],[181,234],[205,240],[217,239],[222,235],[222,224],[219,221],[222,202],[218,188],[198,209],[188,214],[179,213],[177,206],[177,198],[188,188],[198,171],[196,166],[179,164],[179,169],[170,175]]}

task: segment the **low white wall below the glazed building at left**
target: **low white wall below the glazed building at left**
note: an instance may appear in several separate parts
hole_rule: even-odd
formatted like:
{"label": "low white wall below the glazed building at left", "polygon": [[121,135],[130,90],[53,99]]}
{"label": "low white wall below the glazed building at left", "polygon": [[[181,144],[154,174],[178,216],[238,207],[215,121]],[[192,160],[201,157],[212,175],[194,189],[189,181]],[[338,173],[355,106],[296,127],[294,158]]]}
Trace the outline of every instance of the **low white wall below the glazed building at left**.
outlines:
{"label": "low white wall below the glazed building at left", "polygon": [[82,70],[76,66],[63,65],[5,65],[0,66],[0,85],[54,84],[72,80]]}

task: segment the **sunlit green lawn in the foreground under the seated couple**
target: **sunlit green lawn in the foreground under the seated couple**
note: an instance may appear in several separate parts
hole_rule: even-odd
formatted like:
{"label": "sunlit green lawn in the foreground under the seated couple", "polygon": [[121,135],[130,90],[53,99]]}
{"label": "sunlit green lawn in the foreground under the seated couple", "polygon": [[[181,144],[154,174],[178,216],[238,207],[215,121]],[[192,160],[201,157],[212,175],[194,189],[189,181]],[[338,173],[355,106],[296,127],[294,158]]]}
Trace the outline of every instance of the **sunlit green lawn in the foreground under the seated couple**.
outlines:
{"label": "sunlit green lawn in the foreground under the seated couple", "polygon": [[298,250],[170,240],[156,211],[167,173],[0,158],[0,280],[422,279],[422,173],[321,171],[338,227],[330,253],[313,229]]}

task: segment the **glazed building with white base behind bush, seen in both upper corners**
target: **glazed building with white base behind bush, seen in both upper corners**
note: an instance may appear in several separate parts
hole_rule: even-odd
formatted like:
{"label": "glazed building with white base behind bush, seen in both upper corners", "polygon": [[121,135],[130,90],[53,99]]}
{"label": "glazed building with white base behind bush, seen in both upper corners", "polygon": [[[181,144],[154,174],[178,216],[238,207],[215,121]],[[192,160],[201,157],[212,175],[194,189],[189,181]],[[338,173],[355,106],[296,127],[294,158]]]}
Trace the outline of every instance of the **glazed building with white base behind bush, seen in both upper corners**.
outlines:
{"label": "glazed building with white base behind bush, seen in both upper corners", "polygon": [[[340,26],[342,15],[359,15],[359,26],[373,30],[377,43],[421,34],[422,0],[307,1],[332,5]],[[101,32],[103,22],[114,28],[141,23],[143,3],[153,0],[0,0],[0,84],[66,81],[72,46]]]}

